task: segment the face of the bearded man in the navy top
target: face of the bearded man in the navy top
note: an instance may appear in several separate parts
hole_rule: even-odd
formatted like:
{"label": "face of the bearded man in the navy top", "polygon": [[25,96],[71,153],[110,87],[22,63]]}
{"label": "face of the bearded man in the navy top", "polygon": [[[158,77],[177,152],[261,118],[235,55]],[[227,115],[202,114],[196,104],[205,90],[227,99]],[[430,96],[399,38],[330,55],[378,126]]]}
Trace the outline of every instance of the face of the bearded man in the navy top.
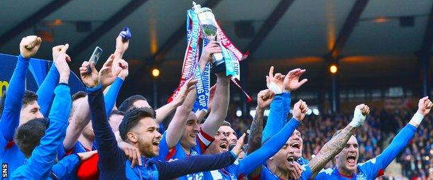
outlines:
{"label": "face of the bearded man in the navy top", "polygon": [[[158,156],[160,151],[161,134],[158,124],[153,118],[142,118],[139,125],[131,129],[133,138],[129,136],[130,141],[136,141],[140,153],[146,157]],[[131,140],[132,139],[132,140]]]}

